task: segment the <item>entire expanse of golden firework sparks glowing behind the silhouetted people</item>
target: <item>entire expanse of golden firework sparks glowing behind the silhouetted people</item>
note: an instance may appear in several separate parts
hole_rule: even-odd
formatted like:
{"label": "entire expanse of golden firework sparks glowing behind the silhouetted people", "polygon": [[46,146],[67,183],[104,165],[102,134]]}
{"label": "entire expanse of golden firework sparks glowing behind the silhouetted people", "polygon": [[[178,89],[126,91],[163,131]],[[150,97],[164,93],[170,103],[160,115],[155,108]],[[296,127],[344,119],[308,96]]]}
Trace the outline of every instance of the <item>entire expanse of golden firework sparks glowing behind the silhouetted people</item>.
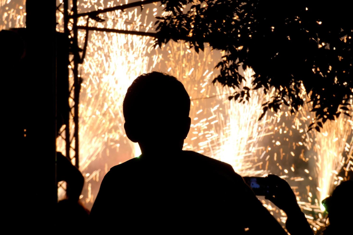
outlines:
{"label": "entire expanse of golden firework sparks glowing behind the silhouetted people", "polygon": [[[79,12],[121,3],[126,2],[80,1]],[[1,4],[4,5],[0,8],[3,20],[0,30],[23,27],[24,3],[16,5],[13,1],[3,1]],[[105,13],[101,17],[106,21],[97,23],[89,20],[89,24],[148,31],[152,27],[152,18],[146,15],[149,11],[159,14],[160,8],[156,7],[153,4],[145,6],[145,12],[141,14],[137,9]],[[58,13],[57,19],[58,31],[63,31],[62,14]],[[79,25],[87,23],[83,17],[78,21]],[[85,33],[84,30],[79,31],[81,46]],[[81,198],[92,203],[102,178],[100,175],[104,175],[110,165],[118,163],[115,160],[113,163],[103,162],[107,160],[102,160],[102,155],[116,157],[125,154],[127,160],[140,154],[138,144],[129,141],[125,135],[122,101],[133,79],[142,73],[159,70],[177,77],[191,97],[192,124],[185,140],[185,150],[225,161],[242,175],[271,172],[287,177],[291,184],[298,185],[292,188],[313,230],[324,226],[320,220],[323,218],[321,200],[331,193],[334,185],[340,184],[342,179],[337,173],[341,168],[353,170],[353,139],[347,142],[352,136],[352,117],[341,115],[335,121],[328,121],[321,133],[305,132],[312,120],[307,105],[293,116],[283,109],[258,121],[262,113],[261,104],[270,99],[269,94],[265,95],[261,89],[251,91],[251,99],[243,104],[228,101],[228,96],[234,92],[232,89],[212,85],[217,74],[214,67],[222,52],[206,47],[197,54],[184,42],[169,42],[162,48],[152,49],[152,40],[136,35],[90,32],[86,57],[79,67],[83,78],[79,109],[80,170],[88,183],[85,196]],[[251,69],[245,71],[243,86],[250,86],[252,74]],[[72,83],[72,74],[70,76]],[[352,104],[352,100],[350,102]],[[73,124],[70,125],[73,128]],[[59,151],[65,152],[64,144],[59,138]],[[112,150],[115,151],[113,154]],[[348,157],[343,156],[343,152],[348,153]],[[310,165],[312,159],[315,163]],[[303,164],[306,164],[304,168]],[[307,202],[304,202],[305,198]],[[265,201],[263,203],[269,211],[278,213],[279,221],[285,222],[282,211]]]}

